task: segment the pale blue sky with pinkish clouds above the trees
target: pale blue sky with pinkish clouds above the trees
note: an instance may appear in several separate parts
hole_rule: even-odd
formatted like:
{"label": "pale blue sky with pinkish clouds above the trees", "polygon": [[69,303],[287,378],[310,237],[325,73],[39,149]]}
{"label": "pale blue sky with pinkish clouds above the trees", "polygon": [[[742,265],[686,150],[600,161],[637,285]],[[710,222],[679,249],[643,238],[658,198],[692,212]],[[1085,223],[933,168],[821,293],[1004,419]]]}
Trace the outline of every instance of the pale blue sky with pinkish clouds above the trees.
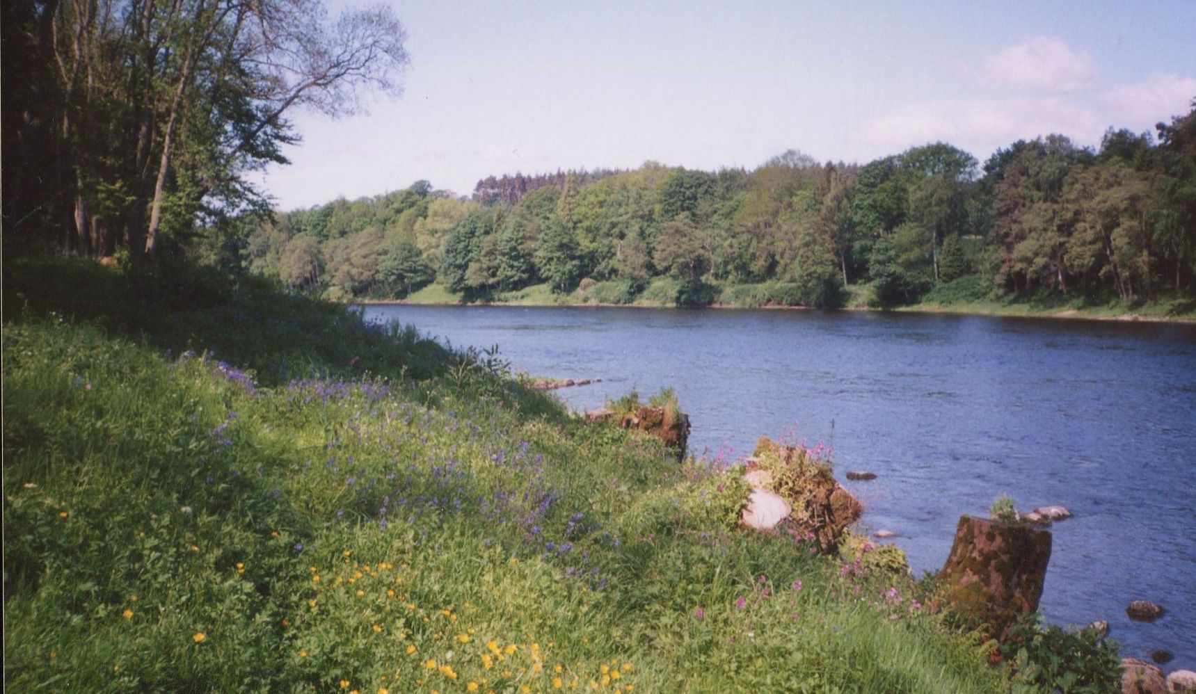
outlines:
{"label": "pale blue sky with pinkish clouds above the trees", "polygon": [[983,161],[1019,137],[1153,131],[1196,98],[1196,0],[385,1],[408,32],[403,94],[293,113],[303,143],[261,179],[280,208],[789,148],[866,162],[944,140]]}

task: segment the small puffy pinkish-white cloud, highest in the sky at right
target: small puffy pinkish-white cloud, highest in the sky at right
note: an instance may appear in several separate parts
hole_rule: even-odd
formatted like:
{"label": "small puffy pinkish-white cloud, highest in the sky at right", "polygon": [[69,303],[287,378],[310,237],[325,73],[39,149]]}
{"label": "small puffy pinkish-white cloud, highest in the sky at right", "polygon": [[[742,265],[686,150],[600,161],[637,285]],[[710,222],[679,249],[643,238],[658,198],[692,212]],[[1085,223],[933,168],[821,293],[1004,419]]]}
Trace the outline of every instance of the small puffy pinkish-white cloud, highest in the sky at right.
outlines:
{"label": "small puffy pinkish-white cloud, highest in the sky at right", "polygon": [[984,62],[989,81],[1020,90],[1070,92],[1092,81],[1092,56],[1074,53],[1060,38],[1038,36],[1011,45]]}

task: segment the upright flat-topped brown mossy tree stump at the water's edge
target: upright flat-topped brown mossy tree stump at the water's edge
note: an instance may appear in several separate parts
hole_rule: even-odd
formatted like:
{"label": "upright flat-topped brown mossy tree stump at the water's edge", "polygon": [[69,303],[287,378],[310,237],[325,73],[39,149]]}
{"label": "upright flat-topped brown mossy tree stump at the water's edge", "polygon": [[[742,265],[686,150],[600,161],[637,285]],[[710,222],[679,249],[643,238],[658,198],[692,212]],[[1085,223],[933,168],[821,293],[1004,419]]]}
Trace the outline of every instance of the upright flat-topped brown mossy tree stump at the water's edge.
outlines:
{"label": "upright flat-topped brown mossy tree stump at the water's edge", "polygon": [[944,600],[1000,639],[1019,614],[1038,608],[1050,548],[1046,530],[962,516],[939,572]]}

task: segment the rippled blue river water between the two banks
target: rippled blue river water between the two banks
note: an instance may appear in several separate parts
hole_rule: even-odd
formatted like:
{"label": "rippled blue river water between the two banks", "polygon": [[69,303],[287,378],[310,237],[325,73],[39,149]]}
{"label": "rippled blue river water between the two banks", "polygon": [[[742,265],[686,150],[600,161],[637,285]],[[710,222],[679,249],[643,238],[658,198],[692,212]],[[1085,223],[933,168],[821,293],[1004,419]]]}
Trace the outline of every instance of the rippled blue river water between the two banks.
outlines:
{"label": "rippled blue river water between the two banks", "polygon": [[[944,314],[368,306],[517,370],[602,377],[578,410],[676,388],[690,452],[824,441],[864,523],[938,569],[960,514],[1062,504],[1039,609],[1107,620],[1128,656],[1196,669],[1196,326]],[[847,481],[846,471],[874,472]],[[1131,600],[1166,608],[1153,624]]]}

